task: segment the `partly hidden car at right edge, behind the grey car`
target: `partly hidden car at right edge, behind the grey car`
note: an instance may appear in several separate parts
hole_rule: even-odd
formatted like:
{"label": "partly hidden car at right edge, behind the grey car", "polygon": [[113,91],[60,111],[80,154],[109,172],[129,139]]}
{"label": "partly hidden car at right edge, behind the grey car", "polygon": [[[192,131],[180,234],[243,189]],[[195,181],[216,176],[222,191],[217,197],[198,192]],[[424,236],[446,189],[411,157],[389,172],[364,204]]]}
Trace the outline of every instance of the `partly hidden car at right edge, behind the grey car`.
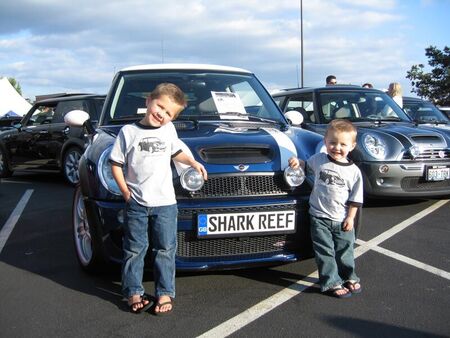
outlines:
{"label": "partly hidden car at right edge, behind the grey car", "polygon": [[416,123],[450,130],[450,120],[434,104],[416,97],[403,97],[403,110]]}

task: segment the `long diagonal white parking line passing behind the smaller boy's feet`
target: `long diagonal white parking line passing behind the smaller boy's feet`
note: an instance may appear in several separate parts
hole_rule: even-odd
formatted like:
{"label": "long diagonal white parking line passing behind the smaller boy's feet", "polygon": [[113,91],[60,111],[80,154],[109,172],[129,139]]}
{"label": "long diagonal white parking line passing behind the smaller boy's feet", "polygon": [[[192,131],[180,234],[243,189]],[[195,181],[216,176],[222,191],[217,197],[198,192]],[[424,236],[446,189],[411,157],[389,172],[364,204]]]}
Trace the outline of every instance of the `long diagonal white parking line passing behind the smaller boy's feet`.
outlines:
{"label": "long diagonal white parking line passing behind the smaller boy's feet", "polygon": [[[404,220],[403,222],[393,226],[389,230],[383,232],[382,234],[376,236],[375,238],[371,239],[370,241],[364,242],[362,246],[359,246],[355,249],[355,258],[363,255],[367,251],[378,248],[378,244],[382,243],[383,241],[391,238],[395,234],[399,233],[400,231],[406,229],[411,224],[417,222],[421,218],[427,216],[428,214],[432,213],[433,211],[437,210],[438,208],[442,207],[446,203],[448,203],[450,200],[440,200],[434,204],[432,204],[430,207],[422,210],[421,212],[411,216],[410,218]],[[244,312],[234,316],[233,318],[230,318],[229,320],[223,322],[222,324],[212,328],[211,330],[203,333],[202,335],[198,337],[226,337],[234,332],[240,330],[244,326],[250,324],[251,322],[255,321],[256,319],[262,317],[269,311],[275,309],[276,307],[282,305],[283,303],[287,302],[291,298],[294,298],[295,296],[299,295],[309,287],[313,286],[314,284],[317,284],[319,281],[318,278],[318,271],[314,271],[310,275],[308,275],[306,278],[299,280],[287,288],[277,292],[276,294],[270,296],[269,298],[259,302],[258,304],[248,308]]]}

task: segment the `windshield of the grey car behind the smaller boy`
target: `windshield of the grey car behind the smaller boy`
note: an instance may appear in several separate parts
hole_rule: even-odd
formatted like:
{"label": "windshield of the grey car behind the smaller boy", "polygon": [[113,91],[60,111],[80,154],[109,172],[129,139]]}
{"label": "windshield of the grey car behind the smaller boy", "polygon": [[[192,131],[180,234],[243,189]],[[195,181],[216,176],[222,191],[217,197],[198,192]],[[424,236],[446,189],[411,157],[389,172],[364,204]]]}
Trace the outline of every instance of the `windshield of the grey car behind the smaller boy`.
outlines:
{"label": "windshield of the grey car behind the smaller boy", "polygon": [[387,94],[379,91],[330,91],[319,94],[326,123],[343,118],[362,121],[411,121]]}

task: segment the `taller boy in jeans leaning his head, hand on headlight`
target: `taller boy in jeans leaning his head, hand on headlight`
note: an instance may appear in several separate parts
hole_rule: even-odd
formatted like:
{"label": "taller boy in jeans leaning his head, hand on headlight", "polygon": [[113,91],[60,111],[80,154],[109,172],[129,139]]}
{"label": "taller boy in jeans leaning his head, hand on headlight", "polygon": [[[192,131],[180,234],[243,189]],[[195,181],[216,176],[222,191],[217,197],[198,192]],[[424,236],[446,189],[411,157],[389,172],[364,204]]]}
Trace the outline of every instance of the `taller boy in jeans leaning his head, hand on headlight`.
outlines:
{"label": "taller boy in jeans leaning his head, hand on headlight", "polygon": [[203,165],[182,152],[171,123],[186,106],[180,88],[171,83],[158,85],[147,97],[146,106],[142,120],[122,127],[110,156],[112,174],[126,201],[122,292],[133,313],[151,306],[142,285],[150,223],[155,314],[167,314],[175,297],[178,212],[170,160],[192,166],[205,180],[207,173]]}

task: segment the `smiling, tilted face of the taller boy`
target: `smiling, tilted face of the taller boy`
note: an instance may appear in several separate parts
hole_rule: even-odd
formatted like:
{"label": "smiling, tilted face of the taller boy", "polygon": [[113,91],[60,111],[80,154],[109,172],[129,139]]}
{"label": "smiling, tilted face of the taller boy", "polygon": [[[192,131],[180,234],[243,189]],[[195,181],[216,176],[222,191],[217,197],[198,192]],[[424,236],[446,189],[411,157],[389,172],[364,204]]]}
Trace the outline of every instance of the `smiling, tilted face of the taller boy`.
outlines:
{"label": "smiling, tilted face of the taller boy", "polygon": [[152,99],[149,96],[147,97],[146,105],[146,118],[152,127],[161,127],[172,121],[178,112],[183,109],[183,106],[172,101],[167,95],[162,95],[156,99]]}

